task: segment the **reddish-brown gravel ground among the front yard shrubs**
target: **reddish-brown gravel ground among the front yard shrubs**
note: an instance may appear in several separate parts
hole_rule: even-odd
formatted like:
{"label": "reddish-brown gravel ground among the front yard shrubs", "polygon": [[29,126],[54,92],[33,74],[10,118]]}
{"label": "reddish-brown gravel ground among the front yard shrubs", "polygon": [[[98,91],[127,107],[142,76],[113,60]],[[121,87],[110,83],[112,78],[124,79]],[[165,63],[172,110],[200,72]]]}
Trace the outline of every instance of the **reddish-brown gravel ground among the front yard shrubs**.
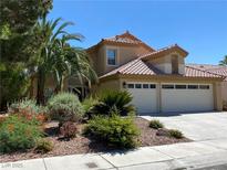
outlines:
{"label": "reddish-brown gravel ground among the front yard shrubs", "polygon": [[[157,130],[149,128],[148,121],[143,118],[138,118],[138,117],[135,118],[135,124],[141,131],[141,135],[138,137],[141,147],[190,141],[187,138],[176,139],[176,138],[167,137],[167,136],[157,136],[156,135]],[[110,147],[105,146],[102,142],[95,142],[84,137],[82,135],[82,129],[84,126],[85,124],[78,126],[80,132],[75,138],[65,140],[65,139],[59,138],[58,136],[58,132],[56,132],[58,123],[48,123],[45,124],[45,132],[47,132],[45,138],[53,142],[54,148],[52,151],[48,153],[38,153],[33,149],[31,149],[31,150],[28,150],[27,152],[4,153],[4,155],[0,155],[0,162],[113,150],[113,149],[110,149]]]}

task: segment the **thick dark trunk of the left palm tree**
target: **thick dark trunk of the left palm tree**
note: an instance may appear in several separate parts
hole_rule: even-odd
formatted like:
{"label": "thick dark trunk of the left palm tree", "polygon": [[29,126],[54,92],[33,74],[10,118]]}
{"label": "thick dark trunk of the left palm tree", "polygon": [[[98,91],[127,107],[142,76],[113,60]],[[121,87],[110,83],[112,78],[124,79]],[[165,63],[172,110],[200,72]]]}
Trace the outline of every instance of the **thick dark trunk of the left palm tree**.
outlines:
{"label": "thick dark trunk of the left palm tree", "polygon": [[37,103],[39,105],[44,104],[44,85],[45,85],[45,73],[42,68],[39,68],[38,87],[37,87]]}

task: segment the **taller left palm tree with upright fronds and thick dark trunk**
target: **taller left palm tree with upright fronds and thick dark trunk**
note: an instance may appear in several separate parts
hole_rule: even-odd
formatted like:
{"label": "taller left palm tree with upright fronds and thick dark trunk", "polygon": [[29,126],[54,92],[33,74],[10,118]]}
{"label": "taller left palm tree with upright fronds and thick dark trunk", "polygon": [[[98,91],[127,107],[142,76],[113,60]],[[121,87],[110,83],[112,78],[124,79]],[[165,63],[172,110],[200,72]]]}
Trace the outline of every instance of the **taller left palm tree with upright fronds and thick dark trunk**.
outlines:
{"label": "taller left palm tree with upright fronds and thick dark trunk", "polygon": [[40,22],[38,22],[35,29],[42,39],[42,45],[40,47],[40,55],[38,59],[38,88],[37,88],[37,102],[38,104],[44,103],[44,85],[47,75],[51,72],[53,65],[53,50],[58,41],[58,36],[61,34],[68,34],[64,29],[68,25],[72,25],[71,22],[64,22],[60,26],[61,19],[54,21],[47,21],[47,17],[43,17]]}

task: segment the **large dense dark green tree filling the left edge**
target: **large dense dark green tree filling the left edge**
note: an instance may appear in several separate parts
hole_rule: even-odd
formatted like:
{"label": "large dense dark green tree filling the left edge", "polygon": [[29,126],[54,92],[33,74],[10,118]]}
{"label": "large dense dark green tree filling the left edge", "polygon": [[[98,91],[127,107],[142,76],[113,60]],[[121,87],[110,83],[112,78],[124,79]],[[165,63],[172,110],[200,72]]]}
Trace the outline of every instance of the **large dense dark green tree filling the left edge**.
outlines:
{"label": "large dense dark green tree filling the left edge", "polygon": [[0,110],[27,92],[27,63],[35,59],[41,42],[33,26],[51,8],[52,0],[0,2]]}

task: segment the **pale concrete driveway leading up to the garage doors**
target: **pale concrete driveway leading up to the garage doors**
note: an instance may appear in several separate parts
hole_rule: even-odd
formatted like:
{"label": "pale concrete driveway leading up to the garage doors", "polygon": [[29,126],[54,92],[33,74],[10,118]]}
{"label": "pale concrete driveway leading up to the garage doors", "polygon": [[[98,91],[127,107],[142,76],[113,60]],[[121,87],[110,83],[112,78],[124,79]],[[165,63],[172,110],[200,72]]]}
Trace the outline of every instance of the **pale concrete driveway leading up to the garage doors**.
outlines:
{"label": "pale concrete driveway leading up to the garage doors", "polygon": [[159,119],[166,128],[182,130],[187,138],[195,141],[220,141],[219,139],[227,138],[227,111],[142,117],[147,120]]}

